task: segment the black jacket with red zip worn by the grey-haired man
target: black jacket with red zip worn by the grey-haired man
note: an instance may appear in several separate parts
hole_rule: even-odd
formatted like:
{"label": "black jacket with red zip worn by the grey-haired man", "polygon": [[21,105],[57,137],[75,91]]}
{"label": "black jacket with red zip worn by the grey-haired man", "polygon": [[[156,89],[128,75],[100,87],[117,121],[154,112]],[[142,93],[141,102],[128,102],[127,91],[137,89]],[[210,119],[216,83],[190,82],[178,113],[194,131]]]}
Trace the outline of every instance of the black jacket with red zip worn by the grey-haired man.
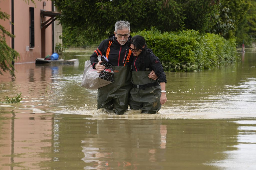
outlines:
{"label": "black jacket with red zip worn by the grey-haired man", "polygon": [[[131,40],[132,36],[129,36],[128,41]],[[100,51],[103,56],[106,56],[106,51],[109,47],[109,40],[112,41],[112,44],[110,46],[110,52],[108,60],[112,64],[112,66],[124,66],[124,63],[127,59],[128,53],[129,53],[129,47],[128,43],[126,42],[124,45],[119,44],[119,42],[116,40],[115,34],[112,34],[109,36],[109,39],[103,40],[98,49],[94,51],[94,53],[91,55],[90,60],[93,68],[95,69],[95,64],[98,63],[98,55],[100,54]],[[128,61],[126,61],[125,66],[131,66],[131,60],[132,60],[132,54]]]}

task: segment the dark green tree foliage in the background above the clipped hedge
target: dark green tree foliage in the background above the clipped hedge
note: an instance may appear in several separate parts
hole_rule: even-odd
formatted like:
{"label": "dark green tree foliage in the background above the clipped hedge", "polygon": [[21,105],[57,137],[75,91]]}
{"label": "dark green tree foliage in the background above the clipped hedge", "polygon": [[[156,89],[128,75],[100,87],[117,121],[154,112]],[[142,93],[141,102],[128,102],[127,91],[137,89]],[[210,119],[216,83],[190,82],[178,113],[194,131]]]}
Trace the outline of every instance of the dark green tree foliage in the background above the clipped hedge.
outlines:
{"label": "dark green tree foliage in the background above the clipped hedge", "polygon": [[117,20],[129,21],[132,32],[186,28],[232,38],[249,9],[244,0],[56,0],[55,5],[62,12],[67,45],[102,40],[113,33]]}

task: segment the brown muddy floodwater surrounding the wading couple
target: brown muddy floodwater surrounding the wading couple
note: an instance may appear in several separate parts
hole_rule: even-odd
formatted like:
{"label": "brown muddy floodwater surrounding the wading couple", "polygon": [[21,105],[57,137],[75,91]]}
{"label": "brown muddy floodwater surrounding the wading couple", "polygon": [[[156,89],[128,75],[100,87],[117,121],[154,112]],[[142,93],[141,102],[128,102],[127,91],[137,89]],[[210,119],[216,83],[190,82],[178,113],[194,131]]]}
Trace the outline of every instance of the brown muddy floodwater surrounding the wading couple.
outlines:
{"label": "brown muddy floodwater surrounding the wading couple", "polygon": [[256,169],[256,51],[198,72],[166,72],[157,114],[97,111],[80,87],[92,51],[66,51],[77,66],[15,64],[0,75],[2,169]]}

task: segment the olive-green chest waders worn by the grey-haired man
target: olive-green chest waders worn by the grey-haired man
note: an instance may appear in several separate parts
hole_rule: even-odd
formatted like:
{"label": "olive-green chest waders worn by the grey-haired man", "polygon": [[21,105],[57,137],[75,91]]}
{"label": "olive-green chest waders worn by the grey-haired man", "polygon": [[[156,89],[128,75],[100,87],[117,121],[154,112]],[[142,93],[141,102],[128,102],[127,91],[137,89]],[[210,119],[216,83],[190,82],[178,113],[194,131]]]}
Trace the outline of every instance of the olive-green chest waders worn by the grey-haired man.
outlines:
{"label": "olive-green chest waders worn by the grey-haired man", "polygon": [[116,114],[124,114],[128,108],[131,84],[131,68],[112,66],[114,82],[98,89],[98,109],[115,110]]}

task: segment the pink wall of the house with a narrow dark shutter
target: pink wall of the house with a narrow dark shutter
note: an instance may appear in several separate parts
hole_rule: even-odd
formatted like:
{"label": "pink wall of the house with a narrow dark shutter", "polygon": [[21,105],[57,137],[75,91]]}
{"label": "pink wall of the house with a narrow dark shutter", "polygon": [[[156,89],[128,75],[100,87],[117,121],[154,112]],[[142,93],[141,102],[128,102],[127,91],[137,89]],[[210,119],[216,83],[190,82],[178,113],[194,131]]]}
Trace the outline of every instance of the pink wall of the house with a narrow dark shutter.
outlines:
{"label": "pink wall of the house with a narrow dark shutter", "polygon": [[[46,2],[46,6],[43,6],[43,1],[35,0],[35,4],[31,1],[26,3],[22,0],[14,0],[14,49],[20,54],[20,59],[15,63],[24,62],[35,62],[36,58],[41,58],[42,44],[41,44],[41,21],[47,21],[50,17],[41,17],[40,10],[44,9],[47,11],[52,10],[52,2]],[[35,17],[35,47],[33,49],[26,50],[29,46],[29,24],[30,24],[30,12],[29,7],[34,7]],[[0,8],[2,11],[10,15],[9,21],[0,20],[0,24],[3,25],[9,32],[11,29],[11,0],[0,1]],[[7,44],[11,47],[11,39],[6,38]],[[52,54],[52,24],[49,25],[45,30],[45,53]]]}

